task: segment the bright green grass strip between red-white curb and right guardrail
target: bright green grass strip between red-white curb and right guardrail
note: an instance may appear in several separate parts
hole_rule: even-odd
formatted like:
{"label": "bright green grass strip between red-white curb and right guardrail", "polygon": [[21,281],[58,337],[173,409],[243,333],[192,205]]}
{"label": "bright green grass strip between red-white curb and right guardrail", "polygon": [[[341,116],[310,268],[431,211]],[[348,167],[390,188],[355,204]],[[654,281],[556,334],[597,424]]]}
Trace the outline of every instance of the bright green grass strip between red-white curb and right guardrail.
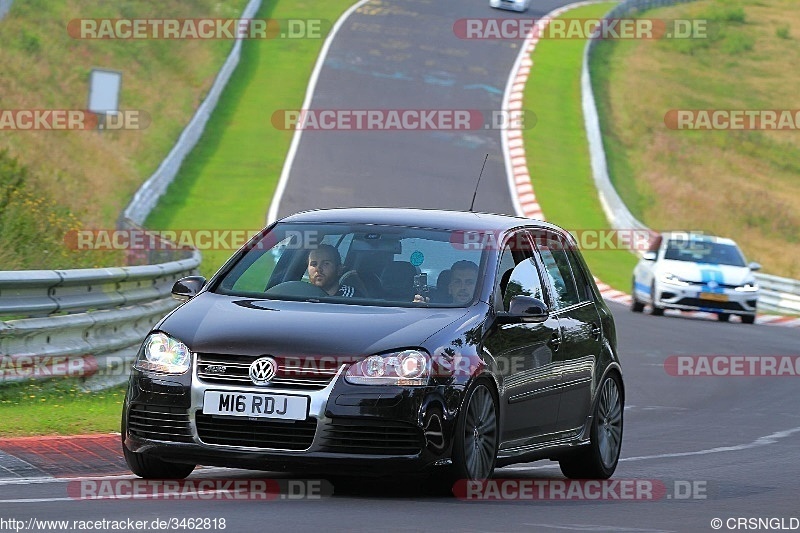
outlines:
{"label": "bright green grass strip between red-white curb and right guardrail", "polygon": [[[568,18],[601,17],[614,3],[572,10]],[[542,39],[525,86],[524,104],[538,118],[524,133],[528,171],[547,220],[570,231],[610,229],[592,178],[581,110],[581,66],[586,41]],[[636,257],[627,250],[584,250],[592,273],[630,290]]]}

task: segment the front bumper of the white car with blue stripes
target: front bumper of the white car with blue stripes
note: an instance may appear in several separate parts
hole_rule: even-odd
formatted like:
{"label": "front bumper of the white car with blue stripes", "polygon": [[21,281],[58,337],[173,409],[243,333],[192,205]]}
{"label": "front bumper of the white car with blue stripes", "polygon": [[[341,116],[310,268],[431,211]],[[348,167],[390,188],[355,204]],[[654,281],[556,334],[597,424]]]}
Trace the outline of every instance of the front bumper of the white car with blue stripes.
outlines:
{"label": "front bumper of the white car with blue stripes", "polygon": [[684,311],[706,311],[735,315],[755,315],[758,291],[708,287],[703,284],[656,284],[655,301],[659,307]]}

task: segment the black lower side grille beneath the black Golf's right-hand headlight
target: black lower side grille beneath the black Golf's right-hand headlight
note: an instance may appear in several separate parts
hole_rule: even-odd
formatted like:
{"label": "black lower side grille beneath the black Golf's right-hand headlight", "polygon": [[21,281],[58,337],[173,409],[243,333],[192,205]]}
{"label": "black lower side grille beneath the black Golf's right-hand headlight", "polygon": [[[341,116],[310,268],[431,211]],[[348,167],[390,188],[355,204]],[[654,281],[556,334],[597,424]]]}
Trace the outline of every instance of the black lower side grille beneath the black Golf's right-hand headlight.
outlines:
{"label": "black lower side grille beneath the black Golf's right-hand headlight", "polygon": [[368,455],[416,455],[422,431],[411,424],[389,421],[333,419],[325,428],[322,450]]}

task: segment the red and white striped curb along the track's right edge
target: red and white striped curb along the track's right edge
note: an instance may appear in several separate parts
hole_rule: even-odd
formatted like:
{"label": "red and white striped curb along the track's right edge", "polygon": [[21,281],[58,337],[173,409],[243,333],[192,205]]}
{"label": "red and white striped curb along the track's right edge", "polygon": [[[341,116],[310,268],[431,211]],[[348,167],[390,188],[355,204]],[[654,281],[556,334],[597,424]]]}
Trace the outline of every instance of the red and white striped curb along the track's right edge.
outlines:
{"label": "red and white striped curb along the track's right edge", "polygon": [[[525,84],[528,82],[528,78],[534,66],[531,55],[534,50],[536,50],[536,45],[539,43],[539,36],[547,25],[550,24],[553,19],[560,17],[567,11],[597,3],[600,2],[587,1],[569,4],[551,11],[536,21],[536,24],[534,24],[530,33],[526,36],[525,42],[520,48],[517,60],[514,62],[514,66],[511,69],[511,74],[509,75],[508,82],[506,83],[506,90],[503,95],[503,109],[509,111],[522,109]],[[511,198],[517,215],[537,220],[545,220],[542,206],[539,205],[536,199],[531,175],[528,172],[528,159],[525,155],[522,130],[519,128],[507,128],[503,130],[501,141],[503,157],[505,159],[506,176],[508,177],[508,188],[511,192]],[[595,282],[597,283],[597,288],[600,289],[600,294],[602,294],[603,298],[606,300],[623,305],[631,304],[632,299],[629,294],[618,291],[597,278],[595,278]],[[699,311],[667,311],[667,314],[696,318],[716,318],[714,313]],[[756,317],[756,323],[770,326],[800,327],[800,318],[778,315],[758,315]]]}

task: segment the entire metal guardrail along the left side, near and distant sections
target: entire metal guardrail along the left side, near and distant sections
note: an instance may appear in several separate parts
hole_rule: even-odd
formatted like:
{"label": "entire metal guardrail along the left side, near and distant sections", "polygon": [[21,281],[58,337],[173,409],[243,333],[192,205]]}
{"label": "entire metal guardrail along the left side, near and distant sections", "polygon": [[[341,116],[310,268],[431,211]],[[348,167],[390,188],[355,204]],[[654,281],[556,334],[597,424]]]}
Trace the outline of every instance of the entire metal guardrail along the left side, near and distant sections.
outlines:
{"label": "entire metal guardrail along the left side, near and distant sections", "polygon": [[[0,18],[11,0],[0,0]],[[250,0],[241,18],[255,17],[261,0]],[[140,226],[197,144],[220,95],[239,63],[237,40],[203,103],[153,175],[136,191],[117,226]],[[168,261],[165,255],[185,257]],[[139,343],[177,307],[170,296],[178,279],[197,272],[200,252],[132,251],[141,266],[0,271],[0,386],[52,377],[80,378],[99,389],[127,379]]]}

